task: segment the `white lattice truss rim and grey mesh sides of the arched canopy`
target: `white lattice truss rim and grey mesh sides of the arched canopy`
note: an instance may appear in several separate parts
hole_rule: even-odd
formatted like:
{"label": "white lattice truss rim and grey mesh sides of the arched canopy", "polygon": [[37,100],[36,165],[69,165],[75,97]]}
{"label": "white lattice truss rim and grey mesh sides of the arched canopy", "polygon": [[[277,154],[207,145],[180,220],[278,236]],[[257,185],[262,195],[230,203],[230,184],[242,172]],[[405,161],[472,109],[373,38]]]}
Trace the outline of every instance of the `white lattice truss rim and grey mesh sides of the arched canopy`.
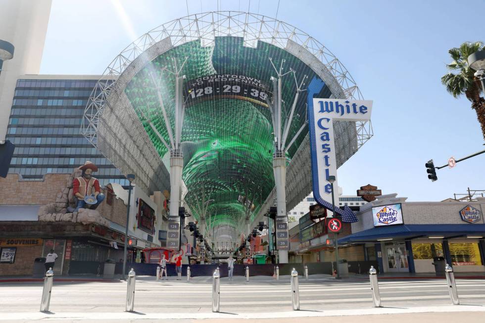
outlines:
{"label": "white lattice truss rim and grey mesh sides of the arched canopy", "polygon": [[[91,94],[81,125],[82,134],[122,173],[137,175],[137,184],[142,189],[167,189],[169,175],[124,95],[124,87],[144,64],[170,48],[196,40],[202,46],[213,46],[215,37],[220,36],[242,37],[244,46],[249,47],[256,47],[258,41],[278,46],[312,68],[331,90],[331,97],[363,99],[349,72],[326,46],[275,18],[248,12],[217,11],[193,14],[162,24],[123,49],[108,65]],[[110,82],[113,79],[116,81]],[[340,129],[343,135],[341,140],[336,139],[339,165],[373,136],[370,122],[336,122],[334,129],[336,132]],[[356,143],[352,137],[357,139]],[[307,180],[305,175],[310,173],[310,168],[296,165],[298,160],[305,165],[310,163],[308,157],[299,156],[307,154],[307,151],[309,143],[305,139],[288,169],[287,187],[302,188],[291,189],[294,195],[288,196],[292,200],[301,200],[311,191],[311,179]]]}

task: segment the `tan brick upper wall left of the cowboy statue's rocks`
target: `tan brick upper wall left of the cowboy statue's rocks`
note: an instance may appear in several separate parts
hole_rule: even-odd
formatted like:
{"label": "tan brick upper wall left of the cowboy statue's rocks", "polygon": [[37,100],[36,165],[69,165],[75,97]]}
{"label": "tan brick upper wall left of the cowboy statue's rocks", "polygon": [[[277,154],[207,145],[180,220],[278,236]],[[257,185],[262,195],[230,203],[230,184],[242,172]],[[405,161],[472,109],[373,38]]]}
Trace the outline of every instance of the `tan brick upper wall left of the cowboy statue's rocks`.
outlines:
{"label": "tan brick upper wall left of the cowboy statue's rocks", "polygon": [[69,174],[46,174],[43,181],[22,181],[18,174],[0,178],[0,204],[48,204],[66,187]]}

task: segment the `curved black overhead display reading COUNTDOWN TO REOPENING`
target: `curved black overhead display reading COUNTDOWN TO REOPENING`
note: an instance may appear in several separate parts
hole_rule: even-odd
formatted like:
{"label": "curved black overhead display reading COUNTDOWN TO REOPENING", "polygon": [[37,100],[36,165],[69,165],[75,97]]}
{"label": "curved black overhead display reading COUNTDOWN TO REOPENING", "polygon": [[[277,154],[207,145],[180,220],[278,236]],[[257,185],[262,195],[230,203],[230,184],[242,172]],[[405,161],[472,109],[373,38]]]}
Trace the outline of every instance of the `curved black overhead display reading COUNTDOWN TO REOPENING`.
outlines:
{"label": "curved black overhead display reading COUNTDOWN TO REOPENING", "polygon": [[215,97],[240,99],[268,107],[269,86],[253,77],[213,74],[190,80],[186,84],[186,106]]}

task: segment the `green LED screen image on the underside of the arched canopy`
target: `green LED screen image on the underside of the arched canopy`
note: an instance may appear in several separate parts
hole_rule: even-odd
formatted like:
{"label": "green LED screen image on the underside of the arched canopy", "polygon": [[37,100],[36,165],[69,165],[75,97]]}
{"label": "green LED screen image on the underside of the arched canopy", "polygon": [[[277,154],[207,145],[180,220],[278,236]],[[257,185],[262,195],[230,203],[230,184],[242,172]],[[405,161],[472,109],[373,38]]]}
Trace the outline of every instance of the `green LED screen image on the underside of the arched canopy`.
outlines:
{"label": "green LED screen image on the underside of the arched canopy", "polygon": [[[241,229],[245,216],[254,216],[274,187],[274,134],[266,103],[272,100],[271,77],[277,77],[272,62],[278,69],[283,63],[284,71],[294,70],[282,78],[283,120],[290,115],[295,79],[299,83],[306,76],[308,85],[315,73],[277,46],[259,42],[257,48],[245,47],[237,37],[216,37],[214,46],[206,47],[189,42],[158,56],[132,78],[125,93],[167,168],[169,151],[146,120],[169,142],[160,106],[173,122],[175,76],[170,71],[186,59],[181,146],[185,201],[196,218],[201,216],[197,203],[209,202],[206,218],[211,226]],[[324,87],[319,97],[330,94]],[[305,121],[305,103],[306,94],[301,92],[287,143]],[[288,149],[288,161],[307,132]]]}

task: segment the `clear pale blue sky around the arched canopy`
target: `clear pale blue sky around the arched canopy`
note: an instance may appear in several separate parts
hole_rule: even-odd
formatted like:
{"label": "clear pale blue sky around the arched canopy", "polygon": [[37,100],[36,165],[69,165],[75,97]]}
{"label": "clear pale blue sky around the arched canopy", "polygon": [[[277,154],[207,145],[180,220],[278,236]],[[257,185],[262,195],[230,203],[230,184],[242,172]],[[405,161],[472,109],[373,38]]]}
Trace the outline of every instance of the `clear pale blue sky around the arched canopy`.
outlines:
{"label": "clear pale blue sky around the arched canopy", "polygon": [[408,201],[440,201],[485,190],[485,153],[437,170],[436,182],[425,167],[485,149],[471,103],[440,83],[449,48],[485,41],[483,0],[53,0],[41,73],[100,75],[145,32],[218,9],[276,17],[308,33],[374,101],[374,137],[338,170],[343,194],[372,184]]}

